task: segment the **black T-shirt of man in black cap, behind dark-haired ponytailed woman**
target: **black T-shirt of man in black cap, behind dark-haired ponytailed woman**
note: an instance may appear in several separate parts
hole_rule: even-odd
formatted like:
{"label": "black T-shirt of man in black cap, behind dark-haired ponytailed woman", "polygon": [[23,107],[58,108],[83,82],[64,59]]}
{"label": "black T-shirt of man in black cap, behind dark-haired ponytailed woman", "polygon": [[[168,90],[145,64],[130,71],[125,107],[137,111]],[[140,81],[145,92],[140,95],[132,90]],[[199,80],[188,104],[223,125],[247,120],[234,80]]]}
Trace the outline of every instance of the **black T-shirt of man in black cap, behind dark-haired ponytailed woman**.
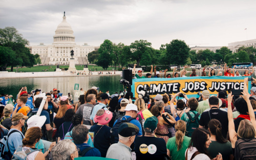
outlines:
{"label": "black T-shirt of man in black cap, behind dark-haired ponytailed woman", "polygon": [[[209,117],[210,113],[210,117]],[[208,123],[210,119],[217,119],[221,122],[221,132],[224,138],[227,138],[227,131],[228,131],[228,118],[227,112],[221,111],[218,109],[211,109],[206,112],[203,112],[199,121],[201,126],[204,126],[205,129],[208,129]]]}

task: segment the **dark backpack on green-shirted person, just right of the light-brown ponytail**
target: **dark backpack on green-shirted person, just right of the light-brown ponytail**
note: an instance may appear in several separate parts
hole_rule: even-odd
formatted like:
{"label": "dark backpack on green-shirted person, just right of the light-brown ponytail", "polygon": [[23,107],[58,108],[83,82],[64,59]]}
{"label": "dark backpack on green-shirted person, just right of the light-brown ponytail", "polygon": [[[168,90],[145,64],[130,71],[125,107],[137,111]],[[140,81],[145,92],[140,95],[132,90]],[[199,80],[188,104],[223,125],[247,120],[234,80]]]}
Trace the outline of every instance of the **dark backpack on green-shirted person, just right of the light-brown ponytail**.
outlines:
{"label": "dark backpack on green-shirted person, just right of the light-brown ponytail", "polygon": [[195,117],[192,118],[191,115],[187,112],[187,117],[189,118],[189,120],[187,121],[187,124],[186,124],[186,136],[187,137],[191,137],[194,130],[196,130],[198,127],[199,127],[199,119],[198,117],[200,116],[200,113],[197,113],[195,114],[193,111],[190,111],[192,112]]}

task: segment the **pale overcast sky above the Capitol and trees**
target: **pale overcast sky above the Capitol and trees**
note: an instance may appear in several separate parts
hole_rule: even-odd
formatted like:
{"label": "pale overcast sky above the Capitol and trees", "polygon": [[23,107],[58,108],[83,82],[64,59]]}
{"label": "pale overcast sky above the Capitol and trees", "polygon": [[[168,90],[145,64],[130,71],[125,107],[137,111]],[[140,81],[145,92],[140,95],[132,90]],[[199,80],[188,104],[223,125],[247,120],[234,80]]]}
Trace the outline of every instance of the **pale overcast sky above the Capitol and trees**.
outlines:
{"label": "pale overcast sky above the Capitol and trees", "polygon": [[143,39],[159,49],[180,39],[190,47],[227,46],[256,38],[255,6],[255,0],[1,0],[0,28],[14,26],[30,45],[52,44],[66,11],[79,45]]}

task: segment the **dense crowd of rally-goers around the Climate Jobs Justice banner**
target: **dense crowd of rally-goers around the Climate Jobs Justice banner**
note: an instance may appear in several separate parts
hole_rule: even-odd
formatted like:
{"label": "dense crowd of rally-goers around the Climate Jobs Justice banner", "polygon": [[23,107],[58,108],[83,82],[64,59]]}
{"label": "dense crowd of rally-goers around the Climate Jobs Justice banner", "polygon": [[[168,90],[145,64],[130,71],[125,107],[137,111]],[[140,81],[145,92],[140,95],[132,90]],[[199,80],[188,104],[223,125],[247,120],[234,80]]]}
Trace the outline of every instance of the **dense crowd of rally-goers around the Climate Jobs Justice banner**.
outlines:
{"label": "dense crowd of rally-goers around the Climate Jobs Justice banner", "polygon": [[[135,77],[142,77],[138,74]],[[248,77],[241,96],[204,90],[199,98],[181,98],[181,92],[157,94],[148,103],[143,95],[110,95],[97,87],[84,91],[75,103],[70,93],[61,95],[56,88],[45,94],[35,90],[33,95],[22,87],[15,105],[8,94],[2,97],[1,157],[255,159],[256,87],[248,93],[247,84]]]}

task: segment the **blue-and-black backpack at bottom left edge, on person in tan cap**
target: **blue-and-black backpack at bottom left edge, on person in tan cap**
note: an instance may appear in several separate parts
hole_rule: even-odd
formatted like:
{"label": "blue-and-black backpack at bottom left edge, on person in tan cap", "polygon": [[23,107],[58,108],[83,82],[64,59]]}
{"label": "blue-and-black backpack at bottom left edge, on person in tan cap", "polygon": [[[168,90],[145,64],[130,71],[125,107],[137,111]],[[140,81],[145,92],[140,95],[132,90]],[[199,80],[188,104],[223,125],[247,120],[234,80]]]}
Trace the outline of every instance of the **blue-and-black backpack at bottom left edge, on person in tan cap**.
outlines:
{"label": "blue-and-black backpack at bottom left edge, on person in tan cap", "polygon": [[[19,132],[18,130],[14,129],[12,130],[7,136],[4,136],[4,138],[0,141],[0,149],[1,149],[1,155],[0,155],[0,159],[11,159],[12,158],[12,153],[10,152],[10,148],[8,145],[8,137],[13,134],[14,132]],[[20,132],[19,132],[20,133]],[[22,135],[20,133],[20,135]],[[22,135],[22,137],[24,138],[24,136]],[[7,148],[6,148],[7,146]]]}

